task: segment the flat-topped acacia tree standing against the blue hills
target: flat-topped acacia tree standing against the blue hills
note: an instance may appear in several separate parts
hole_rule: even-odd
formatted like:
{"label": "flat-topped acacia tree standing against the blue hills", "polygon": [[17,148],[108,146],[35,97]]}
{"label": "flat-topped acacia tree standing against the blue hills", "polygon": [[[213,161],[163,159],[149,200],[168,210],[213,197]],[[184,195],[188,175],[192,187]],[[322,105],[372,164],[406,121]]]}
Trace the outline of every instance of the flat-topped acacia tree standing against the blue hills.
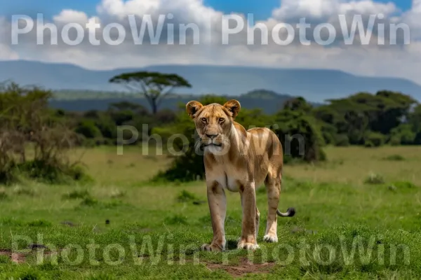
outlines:
{"label": "flat-topped acacia tree standing against the blue hills", "polygon": [[156,114],[162,100],[176,87],[192,87],[185,78],[176,74],[159,72],[122,73],[109,80],[110,83],[125,85],[128,89],[143,94]]}

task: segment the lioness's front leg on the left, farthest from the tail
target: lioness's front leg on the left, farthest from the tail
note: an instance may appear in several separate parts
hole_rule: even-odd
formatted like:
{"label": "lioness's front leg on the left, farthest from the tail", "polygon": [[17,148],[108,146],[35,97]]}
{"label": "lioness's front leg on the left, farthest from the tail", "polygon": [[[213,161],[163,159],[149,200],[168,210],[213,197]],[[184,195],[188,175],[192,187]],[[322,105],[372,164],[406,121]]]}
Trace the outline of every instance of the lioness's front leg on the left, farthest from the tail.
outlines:
{"label": "lioness's front leg on the left, farthest from the tail", "polygon": [[225,250],[225,215],[227,213],[227,200],[225,191],[218,182],[209,182],[208,204],[210,218],[212,220],[213,240],[209,244],[201,246],[204,251],[224,251]]}

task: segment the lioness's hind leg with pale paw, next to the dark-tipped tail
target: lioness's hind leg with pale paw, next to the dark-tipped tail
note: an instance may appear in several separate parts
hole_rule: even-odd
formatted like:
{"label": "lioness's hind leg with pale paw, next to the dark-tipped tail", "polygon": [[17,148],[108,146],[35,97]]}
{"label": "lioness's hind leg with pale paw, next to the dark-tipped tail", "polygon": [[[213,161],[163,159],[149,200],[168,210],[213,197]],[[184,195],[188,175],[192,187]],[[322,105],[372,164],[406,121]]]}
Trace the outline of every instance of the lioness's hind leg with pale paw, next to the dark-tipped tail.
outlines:
{"label": "lioness's hind leg with pale paw, next to the dark-tipped tail", "polygon": [[276,230],[278,226],[278,216],[276,211],[278,210],[279,195],[281,193],[281,178],[274,178],[268,174],[265,186],[267,190],[268,215],[265,237],[263,237],[263,239],[267,242],[277,242],[278,235]]}

